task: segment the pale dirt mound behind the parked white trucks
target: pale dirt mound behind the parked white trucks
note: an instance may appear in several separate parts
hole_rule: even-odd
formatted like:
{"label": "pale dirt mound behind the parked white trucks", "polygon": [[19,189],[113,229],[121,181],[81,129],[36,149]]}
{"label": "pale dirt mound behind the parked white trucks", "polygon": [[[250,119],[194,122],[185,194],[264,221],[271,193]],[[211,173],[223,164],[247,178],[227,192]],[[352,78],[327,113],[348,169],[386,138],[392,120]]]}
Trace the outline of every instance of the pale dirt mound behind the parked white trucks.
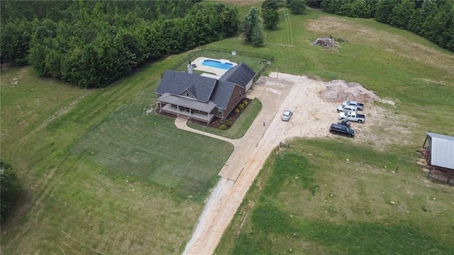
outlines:
{"label": "pale dirt mound behind the parked white trucks", "polygon": [[326,89],[320,92],[320,96],[328,102],[344,100],[374,102],[380,99],[374,92],[365,89],[359,83],[345,80],[331,80],[326,83]]}

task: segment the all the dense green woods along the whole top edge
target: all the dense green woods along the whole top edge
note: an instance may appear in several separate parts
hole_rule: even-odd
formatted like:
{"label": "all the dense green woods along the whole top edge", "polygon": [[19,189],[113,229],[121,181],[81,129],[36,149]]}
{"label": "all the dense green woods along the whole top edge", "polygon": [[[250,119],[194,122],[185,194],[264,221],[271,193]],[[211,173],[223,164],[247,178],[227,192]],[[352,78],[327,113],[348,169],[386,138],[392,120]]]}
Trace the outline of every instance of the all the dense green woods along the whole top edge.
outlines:
{"label": "all the dense green woods along the whole top edge", "polygon": [[[266,0],[262,10],[252,10],[265,28],[279,24],[277,2],[284,3]],[[287,7],[303,13],[303,2],[328,13],[375,18],[454,51],[453,0],[287,0]],[[104,87],[149,61],[238,29],[245,42],[263,43],[260,26],[240,24],[235,7],[210,1],[0,1],[0,8],[2,65],[31,64],[41,76],[80,87]]]}

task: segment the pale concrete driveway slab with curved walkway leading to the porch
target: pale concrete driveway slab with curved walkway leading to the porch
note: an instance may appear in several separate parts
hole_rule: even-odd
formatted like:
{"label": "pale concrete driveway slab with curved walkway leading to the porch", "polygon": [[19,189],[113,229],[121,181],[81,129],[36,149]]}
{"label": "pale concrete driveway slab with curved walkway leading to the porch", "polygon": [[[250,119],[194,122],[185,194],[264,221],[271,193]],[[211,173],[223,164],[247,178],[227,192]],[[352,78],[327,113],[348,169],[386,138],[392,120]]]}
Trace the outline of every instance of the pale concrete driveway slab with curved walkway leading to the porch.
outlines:
{"label": "pale concrete driveway slab with curved walkway leading to the porch", "polygon": [[[275,117],[280,118],[279,108],[281,103],[287,97],[287,94],[289,94],[290,89],[292,89],[292,86],[282,85],[279,84],[278,80],[275,80],[274,82],[272,80],[274,79],[268,78],[267,82],[260,82],[259,80],[255,83],[253,89],[249,90],[248,97],[258,97],[258,99],[262,102],[262,110],[246,134],[240,139],[228,139],[222,136],[216,136],[204,131],[192,129],[187,126],[187,119],[175,119],[175,126],[179,129],[214,137],[233,144],[233,153],[226,161],[226,165],[224,165],[219,172],[221,177],[236,181],[241,171],[243,171],[245,165],[248,163],[248,159],[250,159],[252,151],[258,146],[260,139],[262,139],[263,134],[265,134],[268,124],[270,124],[272,119]],[[265,126],[263,125],[263,121],[265,121]]]}

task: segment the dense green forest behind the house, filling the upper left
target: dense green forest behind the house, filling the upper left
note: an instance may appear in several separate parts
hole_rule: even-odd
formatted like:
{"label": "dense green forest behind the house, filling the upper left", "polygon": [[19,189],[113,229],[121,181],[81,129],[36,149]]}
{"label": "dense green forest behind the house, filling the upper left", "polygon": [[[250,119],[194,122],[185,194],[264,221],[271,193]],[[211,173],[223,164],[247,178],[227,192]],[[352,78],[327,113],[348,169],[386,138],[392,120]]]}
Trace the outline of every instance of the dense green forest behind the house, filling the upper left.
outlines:
{"label": "dense green forest behind the house, filling the upper left", "polygon": [[232,36],[238,10],[199,1],[1,1],[1,64],[104,87],[165,55]]}

